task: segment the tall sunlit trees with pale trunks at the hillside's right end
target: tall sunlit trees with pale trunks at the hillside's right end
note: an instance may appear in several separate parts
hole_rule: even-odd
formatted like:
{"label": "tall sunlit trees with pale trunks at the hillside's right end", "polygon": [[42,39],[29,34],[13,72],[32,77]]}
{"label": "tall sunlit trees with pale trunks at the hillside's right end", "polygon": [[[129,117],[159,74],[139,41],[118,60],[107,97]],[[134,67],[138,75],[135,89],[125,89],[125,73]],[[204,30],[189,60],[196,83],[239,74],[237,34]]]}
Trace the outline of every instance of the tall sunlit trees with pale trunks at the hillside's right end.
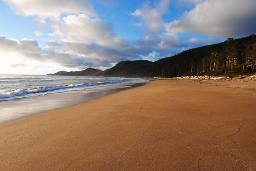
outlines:
{"label": "tall sunlit trees with pale trunks at the hillside's right end", "polygon": [[[193,72],[191,64],[191,72]],[[197,73],[202,72],[255,72],[256,36],[252,35],[246,44],[240,40],[228,38],[223,48],[210,52],[197,64]]]}

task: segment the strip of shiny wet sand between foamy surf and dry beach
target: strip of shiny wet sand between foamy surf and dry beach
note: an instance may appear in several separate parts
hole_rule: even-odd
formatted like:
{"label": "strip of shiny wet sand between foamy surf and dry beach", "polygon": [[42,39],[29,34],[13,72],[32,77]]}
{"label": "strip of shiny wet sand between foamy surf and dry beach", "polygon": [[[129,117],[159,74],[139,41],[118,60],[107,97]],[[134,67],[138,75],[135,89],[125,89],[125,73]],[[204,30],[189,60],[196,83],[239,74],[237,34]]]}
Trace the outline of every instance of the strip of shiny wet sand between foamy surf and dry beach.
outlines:
{"label": "strip of shiny wet sand between foamy surf and dry beach", "polygon": [[64,107],[70,107],[79,103],[83,103],[85,101],[98,99],[102,96],[114,94],[119,91],[128,90],[134,87],[140,87],[144,84],[145,83],[135,83],[127,84],[126,87],[107,89],[103,88],[99,91],[90,91],[86,89],[0,101],[0,111],[2,113],[0,117],[0,124],[30,115],[37,115],[45,111],[52,111]]}

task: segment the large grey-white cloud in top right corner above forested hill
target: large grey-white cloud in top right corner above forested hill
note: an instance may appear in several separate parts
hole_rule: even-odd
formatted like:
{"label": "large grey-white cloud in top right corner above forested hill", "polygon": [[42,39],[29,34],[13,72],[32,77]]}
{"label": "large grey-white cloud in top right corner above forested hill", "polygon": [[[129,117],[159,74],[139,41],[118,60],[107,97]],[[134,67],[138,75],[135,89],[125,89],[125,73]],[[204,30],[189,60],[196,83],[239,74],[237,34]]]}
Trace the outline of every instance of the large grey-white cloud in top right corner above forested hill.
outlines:
{"label": "large grey-white cloud in top right corner above forested hill", "polygon": [[256,30],[255,0],[205,0],[180,20],[170,22],[167,32],[206,36],[248,36]]}

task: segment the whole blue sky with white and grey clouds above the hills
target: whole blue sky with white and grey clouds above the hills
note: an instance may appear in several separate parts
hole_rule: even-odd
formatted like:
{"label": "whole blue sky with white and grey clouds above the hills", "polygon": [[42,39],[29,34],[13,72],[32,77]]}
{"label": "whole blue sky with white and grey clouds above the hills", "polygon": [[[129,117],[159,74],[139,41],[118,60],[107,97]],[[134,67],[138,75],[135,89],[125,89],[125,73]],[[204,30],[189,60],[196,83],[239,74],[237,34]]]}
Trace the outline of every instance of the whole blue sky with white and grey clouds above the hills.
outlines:
{"label": "whole blue sky with white and grey clouds above the hills", "polygon": [[106,70],[256,34],[256,0],[0,0],[0,74]]}

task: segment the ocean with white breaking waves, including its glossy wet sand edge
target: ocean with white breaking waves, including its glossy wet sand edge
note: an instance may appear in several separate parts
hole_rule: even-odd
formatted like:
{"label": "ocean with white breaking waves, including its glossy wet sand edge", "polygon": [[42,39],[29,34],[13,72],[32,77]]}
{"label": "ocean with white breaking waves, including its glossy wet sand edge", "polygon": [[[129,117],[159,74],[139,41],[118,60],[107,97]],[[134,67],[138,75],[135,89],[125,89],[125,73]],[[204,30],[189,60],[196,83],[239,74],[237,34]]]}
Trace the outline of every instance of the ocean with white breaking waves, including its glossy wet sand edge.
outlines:
{"label": "ocean with white breaking waves, including its glossy wet sand edge", "polygon": [[144,84],[138,78],[0,75],[0,123]]}

